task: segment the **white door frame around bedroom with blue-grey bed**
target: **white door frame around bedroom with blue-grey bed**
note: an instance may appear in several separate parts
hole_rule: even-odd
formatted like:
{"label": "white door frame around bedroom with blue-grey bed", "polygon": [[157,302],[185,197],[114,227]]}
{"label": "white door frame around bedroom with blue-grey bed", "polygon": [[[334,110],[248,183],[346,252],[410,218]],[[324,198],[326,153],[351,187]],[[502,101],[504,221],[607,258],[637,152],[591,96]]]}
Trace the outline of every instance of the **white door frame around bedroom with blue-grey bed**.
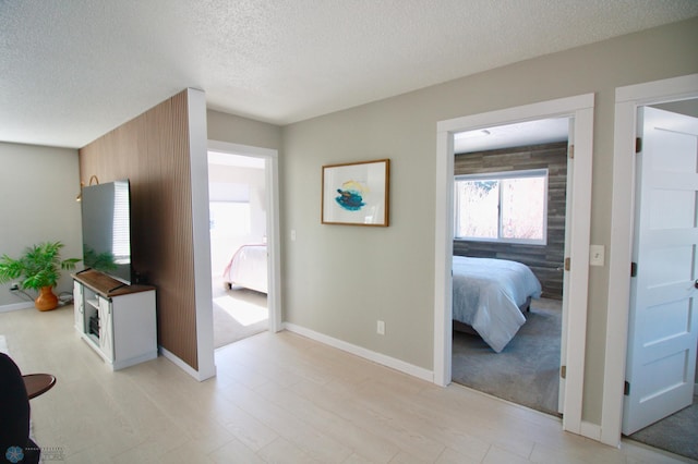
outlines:
{"label": "white door frame around bedroom with blue-grey bed", "polygon": [[567,330],[567,378],[563,411],[563,429],[590,438],[581,424],[581,402],[587,333],[587,291],[589,281],[589,243],[591,224],[591,162],[593,147],[594,95],[586,94],[543,101],[437,123],[435,277],[434,277],[434,383],[447,386],[452,380],[452,262],[454,134],[547,118],[574,118],[575,151],[570,208],[571,237]]}

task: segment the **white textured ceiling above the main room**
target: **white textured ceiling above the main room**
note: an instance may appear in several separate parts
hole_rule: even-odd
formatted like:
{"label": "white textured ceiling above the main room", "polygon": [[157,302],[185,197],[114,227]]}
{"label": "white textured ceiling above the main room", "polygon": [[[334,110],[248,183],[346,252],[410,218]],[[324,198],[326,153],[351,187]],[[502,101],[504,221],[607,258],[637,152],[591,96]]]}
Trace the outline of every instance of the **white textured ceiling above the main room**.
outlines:
{"label": "white textured ceiling above the main room", "polygon": [[696,15],[696,0],[0,0],[0,141],[81,147],[185,87],[288,124]]}

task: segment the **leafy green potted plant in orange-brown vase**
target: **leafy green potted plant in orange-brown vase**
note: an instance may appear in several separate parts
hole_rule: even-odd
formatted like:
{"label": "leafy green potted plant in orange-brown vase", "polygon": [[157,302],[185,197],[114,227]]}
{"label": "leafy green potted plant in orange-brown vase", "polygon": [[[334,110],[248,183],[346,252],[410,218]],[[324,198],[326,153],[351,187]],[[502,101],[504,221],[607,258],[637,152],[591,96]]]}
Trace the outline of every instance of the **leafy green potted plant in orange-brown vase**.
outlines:
{"label": "leafy green potted plant in orange-brown vase", "polygon": [[61,242],[44,242],[28,246],[17,259],[8,255],[0,258],[0,282],[9,282],[22,279],[19,283],[22,289],[32,289],[39,292],[34,300],[34,306],[38,310],[55,309],[58,306],[58,297],[53,294],[53,286],[61,276],[61,270],[74,269],[77,258],[61,259]]}

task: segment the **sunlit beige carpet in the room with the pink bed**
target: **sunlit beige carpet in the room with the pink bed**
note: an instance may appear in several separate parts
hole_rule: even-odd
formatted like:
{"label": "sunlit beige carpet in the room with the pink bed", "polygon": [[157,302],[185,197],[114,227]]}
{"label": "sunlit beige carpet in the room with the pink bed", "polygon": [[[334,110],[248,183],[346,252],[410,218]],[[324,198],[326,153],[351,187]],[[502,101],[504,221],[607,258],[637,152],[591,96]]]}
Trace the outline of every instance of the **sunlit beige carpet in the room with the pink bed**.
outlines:
{"label": "sunlit beige carpet in the room with the pink bed", "polygon": [[246,339],[268,328],[266,295],[248,289],[214,291],[214,347]]}

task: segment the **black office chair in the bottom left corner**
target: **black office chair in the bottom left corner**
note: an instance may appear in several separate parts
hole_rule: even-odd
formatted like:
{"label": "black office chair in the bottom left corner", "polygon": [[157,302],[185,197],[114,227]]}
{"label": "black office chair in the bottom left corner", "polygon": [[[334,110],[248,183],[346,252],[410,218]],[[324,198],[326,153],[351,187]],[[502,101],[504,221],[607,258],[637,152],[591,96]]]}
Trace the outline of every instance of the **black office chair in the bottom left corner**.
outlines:
{"label": "black office chair in the bottom left corner", "polygon": [[29,438],[29,399],[22,373],[0,353],[0,463],[38,463],[40,454]]}

